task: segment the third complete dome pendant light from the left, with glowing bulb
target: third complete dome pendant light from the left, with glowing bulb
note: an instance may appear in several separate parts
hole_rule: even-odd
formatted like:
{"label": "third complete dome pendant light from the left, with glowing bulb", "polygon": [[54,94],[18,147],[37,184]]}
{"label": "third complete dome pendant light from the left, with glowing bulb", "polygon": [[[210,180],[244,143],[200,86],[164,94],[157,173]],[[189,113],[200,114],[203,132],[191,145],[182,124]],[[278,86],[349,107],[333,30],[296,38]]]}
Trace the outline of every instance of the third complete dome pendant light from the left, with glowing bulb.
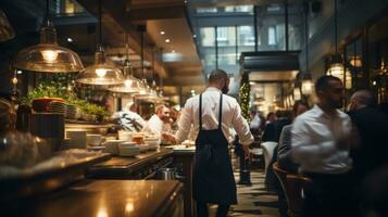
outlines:
{"label": "third complete dome pendant light from the left, with glowing bulb", "polygon": [[120,86],[113,86],[109,88],[109,91],[118,93],[118,94],[134,94],[140,92],[142,88],[141,80],[135,78],[133,76],[133,71],[132,71],[132,65],[129,62],[129,42],[128,42],[128,34],[125,34],[125,40],[126,40],[126,60],[124,61],[124,68],[123,73],[125,76],[125,81],[123,85]]}

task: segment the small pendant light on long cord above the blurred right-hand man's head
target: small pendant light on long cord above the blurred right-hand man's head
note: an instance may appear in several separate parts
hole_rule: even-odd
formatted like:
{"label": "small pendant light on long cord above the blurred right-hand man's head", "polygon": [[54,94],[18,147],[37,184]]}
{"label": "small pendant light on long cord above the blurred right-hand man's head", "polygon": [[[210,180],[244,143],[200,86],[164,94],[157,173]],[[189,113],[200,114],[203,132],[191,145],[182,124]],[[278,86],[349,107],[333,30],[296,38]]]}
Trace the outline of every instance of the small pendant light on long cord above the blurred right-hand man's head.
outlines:
{"label": "small pendant light on long cord above the blurred right-hand man's head", "polygon": [[309,95],[313,92],[314,84],[309,71],[309,4],[304,3],[304,47],[305,47],[305,72],[302,73],[302,94]]}

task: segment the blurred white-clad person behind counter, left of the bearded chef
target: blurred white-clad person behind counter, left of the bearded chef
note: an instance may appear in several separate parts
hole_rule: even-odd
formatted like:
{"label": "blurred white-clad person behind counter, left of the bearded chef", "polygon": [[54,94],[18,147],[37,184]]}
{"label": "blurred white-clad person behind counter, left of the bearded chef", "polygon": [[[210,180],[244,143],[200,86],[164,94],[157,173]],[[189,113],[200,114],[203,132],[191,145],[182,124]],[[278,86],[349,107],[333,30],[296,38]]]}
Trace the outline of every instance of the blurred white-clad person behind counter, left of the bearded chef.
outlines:
{"label": "blurred white-clad person behind counter, left of the bearded chef", "polygon": [[137,107],[134,102],[128,102],[125,107],[112,115],[121,127],[129,131],[140,131],[146,126],[146,120],[137,114]]}

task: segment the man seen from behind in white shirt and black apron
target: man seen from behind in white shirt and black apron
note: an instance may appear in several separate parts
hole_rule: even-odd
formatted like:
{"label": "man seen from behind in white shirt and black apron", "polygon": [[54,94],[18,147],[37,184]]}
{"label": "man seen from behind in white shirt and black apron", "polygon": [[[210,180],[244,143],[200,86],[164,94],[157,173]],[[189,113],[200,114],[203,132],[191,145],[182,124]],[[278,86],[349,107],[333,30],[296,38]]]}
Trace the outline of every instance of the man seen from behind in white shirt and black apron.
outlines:
{"label": "man seen from behind in white shirt and black apron", "polygon": [[[240,138],[246,154],[253,142],[247,120],[237,101],[228,97],[229,78],[224,71],[214,69],[209,87],[200,95],[187,100],[178,123],[175,142],[184,141],[191,125],[196,135],[193,197],[199,217],[208,216],[208,203],[218,204],[217,216],[226,216],[229,205],[237,203],[236,183],[228,151],[229,128]],[[168,137],[168,136],[166,136]]]}

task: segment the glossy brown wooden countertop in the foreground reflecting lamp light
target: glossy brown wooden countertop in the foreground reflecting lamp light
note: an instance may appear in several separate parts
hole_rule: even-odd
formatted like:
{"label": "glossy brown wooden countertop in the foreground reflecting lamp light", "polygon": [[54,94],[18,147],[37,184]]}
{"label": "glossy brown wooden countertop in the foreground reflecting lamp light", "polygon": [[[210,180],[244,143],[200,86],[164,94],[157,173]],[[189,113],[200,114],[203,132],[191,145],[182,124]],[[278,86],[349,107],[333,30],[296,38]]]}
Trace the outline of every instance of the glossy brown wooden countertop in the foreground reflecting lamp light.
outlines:
{"label": "glossy brown wooden countertop in the foreground reflecting lamp light", "polygon": [[179,181],[83,180],[70,188],[0,206],[0,216],[183,216]]}

